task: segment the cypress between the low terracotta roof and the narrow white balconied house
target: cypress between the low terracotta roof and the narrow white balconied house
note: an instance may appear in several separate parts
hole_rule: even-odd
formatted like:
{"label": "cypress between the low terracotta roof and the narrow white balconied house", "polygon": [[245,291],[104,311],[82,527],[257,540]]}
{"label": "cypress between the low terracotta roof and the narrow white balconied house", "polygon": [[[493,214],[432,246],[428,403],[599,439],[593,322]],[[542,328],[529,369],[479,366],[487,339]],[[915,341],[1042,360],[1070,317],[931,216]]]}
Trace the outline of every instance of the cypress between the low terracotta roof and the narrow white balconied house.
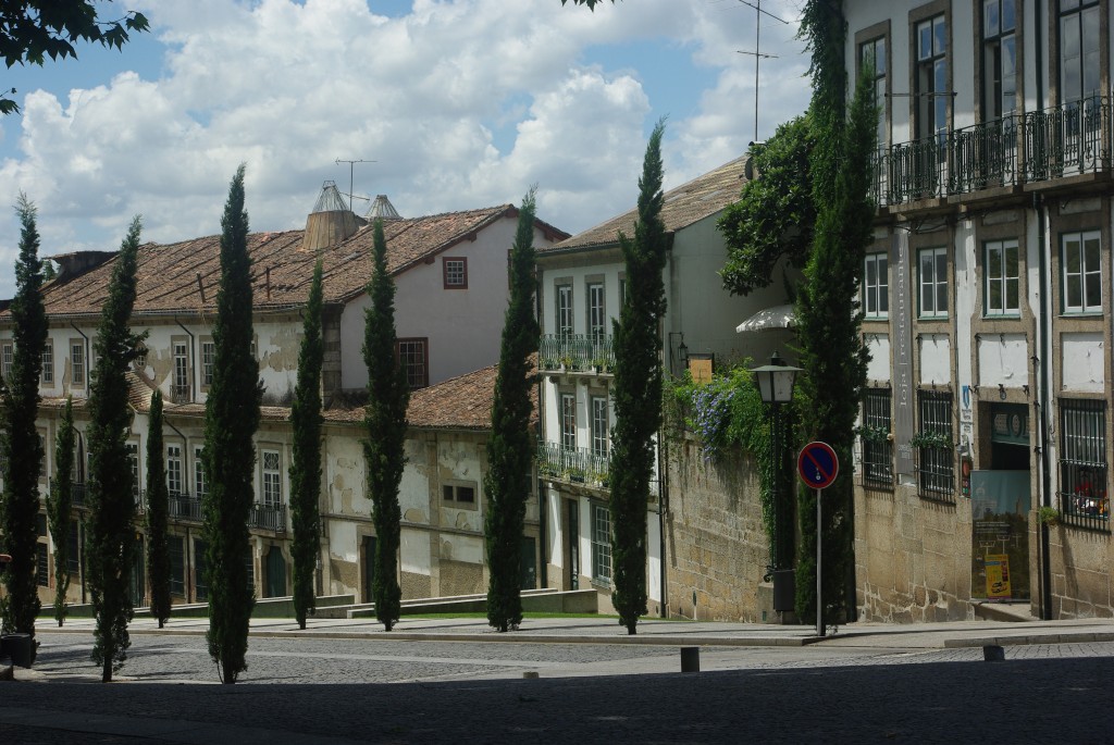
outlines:
{"label": "cypress between the low terracotta roof and the narrow white balconied house", "polygon": [[510,251],[510,298],[502,325],[488,435],[488,472],[483,477],[483,527],[490,570],[488,623],[499,631],[522,620],[518,572],[535,447],[530,434],[530,355],[538,351],[540,335],[534,314],[534,195],[530,189],[522,198]]}

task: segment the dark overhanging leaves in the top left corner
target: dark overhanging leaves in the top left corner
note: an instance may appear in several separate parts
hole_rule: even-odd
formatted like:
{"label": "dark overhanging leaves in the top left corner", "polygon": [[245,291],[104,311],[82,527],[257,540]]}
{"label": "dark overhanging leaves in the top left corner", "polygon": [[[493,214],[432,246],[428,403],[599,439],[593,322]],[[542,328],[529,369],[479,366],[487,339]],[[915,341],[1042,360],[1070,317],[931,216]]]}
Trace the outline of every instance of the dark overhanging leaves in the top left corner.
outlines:
{"label": "dark overhanging leaves in the top left corner", "polygon": [[[147,18],[134,10],[116,20],[98,19],[96,0],[0,0],[0,56],[9,68],[41,66],[47,57],[77,58],[74,43],[79,41],[123,49],[130,32],[148,28]],[[16,111],[16,101],[0,97],[0,114]]]}

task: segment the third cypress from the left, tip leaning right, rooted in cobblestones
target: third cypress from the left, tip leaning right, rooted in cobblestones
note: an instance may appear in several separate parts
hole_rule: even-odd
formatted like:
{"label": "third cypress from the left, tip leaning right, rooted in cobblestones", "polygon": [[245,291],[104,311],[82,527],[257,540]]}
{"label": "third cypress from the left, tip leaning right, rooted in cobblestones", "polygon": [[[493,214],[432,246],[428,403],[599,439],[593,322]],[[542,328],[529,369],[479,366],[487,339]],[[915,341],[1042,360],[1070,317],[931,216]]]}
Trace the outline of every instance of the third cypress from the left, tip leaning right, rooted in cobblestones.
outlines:
{"label": "third cypress from the left, tip leaning right, rooted in cobblestones", "polygon": [[136,263],[139,251],[138,217],[131,220],[120,245],[108,284],[108,300],[97,329],[97,371],[89,394],[89,539],[86,563],[97,627],[92,659],[101,666],[101,680],[127,659],[128,623],[135,609],[128,584],[135,553],[135,499],[127,438],[131,428],[128,409],[128,365],[138,354],[140,336],[131,333],[128,318],[136,298]]}

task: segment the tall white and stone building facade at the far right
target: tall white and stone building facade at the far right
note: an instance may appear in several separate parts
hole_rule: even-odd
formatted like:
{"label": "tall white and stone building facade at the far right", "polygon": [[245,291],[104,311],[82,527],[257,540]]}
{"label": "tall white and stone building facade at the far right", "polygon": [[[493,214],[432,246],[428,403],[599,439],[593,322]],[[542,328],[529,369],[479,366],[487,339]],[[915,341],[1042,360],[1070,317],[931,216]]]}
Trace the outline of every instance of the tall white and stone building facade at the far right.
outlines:
{"label": "tall white and stone building facade at the far right", "polygon": [[1114,615],[1110,3],[844,10],[880,105],[860,612]]}

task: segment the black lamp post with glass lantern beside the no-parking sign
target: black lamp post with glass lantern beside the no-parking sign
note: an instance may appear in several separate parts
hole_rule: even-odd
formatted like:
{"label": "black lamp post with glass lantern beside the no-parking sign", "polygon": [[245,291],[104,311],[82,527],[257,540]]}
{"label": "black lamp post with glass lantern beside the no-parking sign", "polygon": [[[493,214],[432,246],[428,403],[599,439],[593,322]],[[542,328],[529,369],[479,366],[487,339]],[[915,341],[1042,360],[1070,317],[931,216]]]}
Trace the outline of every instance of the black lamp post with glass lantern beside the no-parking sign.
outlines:
{"label": "black lamp post with glass lantern beside the no-parking sign", "polygon": [[758,381],[762,401],[770,404],[770,449],[773,461],[772,509],[773,546],[770,574],[773,575],[773,609],[793,610],[795,584],[793,580],[792,509],[785,500],[785,428],[781,406],[793,400],[793,382],[800,367],[786,365],[774,352],[770,364],[751,370]]}

